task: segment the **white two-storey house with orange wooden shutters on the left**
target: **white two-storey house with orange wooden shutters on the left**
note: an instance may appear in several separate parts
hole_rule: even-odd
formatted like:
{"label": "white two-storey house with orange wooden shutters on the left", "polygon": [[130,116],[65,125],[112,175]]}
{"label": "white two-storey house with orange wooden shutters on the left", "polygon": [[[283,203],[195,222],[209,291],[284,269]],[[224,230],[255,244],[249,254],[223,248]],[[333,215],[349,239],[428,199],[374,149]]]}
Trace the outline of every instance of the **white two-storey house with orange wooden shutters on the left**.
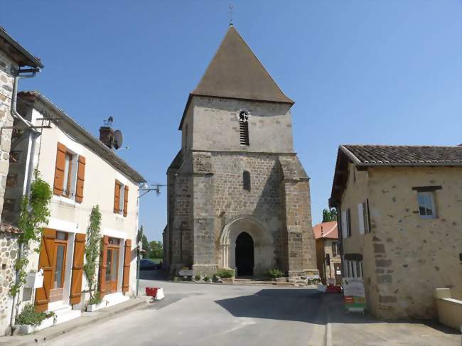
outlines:
{"label": "white two-storey house with orange wooden shutters on the left", "polygon": [[96,205],[103,244],[98,290],[105,306],[126,301],[136,283],[138,193],[144,178],[114,152],[110,126],[102,127],[97,139],[39,92],[19,93],[18,110],[40,126],[41,134],[21,139],[18,131],[12,141],[3,219],[15,224],[34,169],[53,190],[40,253],[31,252],[28,264],[28,271],[43,269],[43,286],[35,294],[24,288],[19,301],[54,311],[58,323],[80,315],[89,298],[82,270],[85,234]]}

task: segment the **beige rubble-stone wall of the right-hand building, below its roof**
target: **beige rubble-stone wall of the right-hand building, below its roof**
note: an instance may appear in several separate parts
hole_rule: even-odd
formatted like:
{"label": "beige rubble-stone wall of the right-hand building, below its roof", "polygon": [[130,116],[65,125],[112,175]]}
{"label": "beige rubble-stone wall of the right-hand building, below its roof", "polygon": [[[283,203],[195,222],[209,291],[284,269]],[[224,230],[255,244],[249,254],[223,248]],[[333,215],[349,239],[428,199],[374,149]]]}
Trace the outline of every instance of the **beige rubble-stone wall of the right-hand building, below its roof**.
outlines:
{"label": "beige rubble-stone wall of the right-hand building, below its roof", "polygon": [[[350,207],[352,237],[344,253],[360,253],[367,304],[381,318],[436,318],[434,288],[462,298],[462,168],[349,167],[342,210]],[[421,218],[413,187],[441,185],[438,217]],[[369,199],[370,234],[359,234],[358,203]]]}

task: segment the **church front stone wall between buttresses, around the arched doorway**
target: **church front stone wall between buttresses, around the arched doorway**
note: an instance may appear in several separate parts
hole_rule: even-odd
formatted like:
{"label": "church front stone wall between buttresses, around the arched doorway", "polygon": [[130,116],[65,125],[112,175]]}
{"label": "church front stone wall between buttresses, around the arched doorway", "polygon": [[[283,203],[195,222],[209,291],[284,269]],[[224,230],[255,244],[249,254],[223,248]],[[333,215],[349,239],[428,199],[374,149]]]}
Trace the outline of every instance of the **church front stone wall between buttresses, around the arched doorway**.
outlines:
{"label": "church front stone wall between buttresses, around the arched doorway", "polygon": [[[266,153],[213,153],[213,183],[215,188],[215,238],[235,217],[252,215],[262,222],[272,244],[262,249],[266,264],[255,263],[256,273],[278,266],[284,269],[281,258],[281,196],[278,156]],[[250,190],[244,190],[242,173],[250,173]],[[256,244],[257,246],[257,244]],[[220,255],[220,242],[215,246]],[[260,249],[255,249],[259,251]],[[221,259],[217,259],[221,263]]]}

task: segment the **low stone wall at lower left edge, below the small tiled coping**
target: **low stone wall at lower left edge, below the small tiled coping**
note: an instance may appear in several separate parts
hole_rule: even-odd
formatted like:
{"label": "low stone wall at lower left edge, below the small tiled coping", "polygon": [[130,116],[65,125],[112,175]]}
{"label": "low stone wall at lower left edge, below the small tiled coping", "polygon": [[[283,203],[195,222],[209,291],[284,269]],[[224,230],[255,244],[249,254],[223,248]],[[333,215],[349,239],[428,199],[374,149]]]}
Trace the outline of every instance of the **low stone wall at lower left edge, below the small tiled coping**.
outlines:
{"label": "low stone wall at lower left edge, below the small tiled coping", "polygon": [[9,294],[14,283],[14,262],[18,254],[18,235],[0,231],[0,336],[9,327],[12,297]]}

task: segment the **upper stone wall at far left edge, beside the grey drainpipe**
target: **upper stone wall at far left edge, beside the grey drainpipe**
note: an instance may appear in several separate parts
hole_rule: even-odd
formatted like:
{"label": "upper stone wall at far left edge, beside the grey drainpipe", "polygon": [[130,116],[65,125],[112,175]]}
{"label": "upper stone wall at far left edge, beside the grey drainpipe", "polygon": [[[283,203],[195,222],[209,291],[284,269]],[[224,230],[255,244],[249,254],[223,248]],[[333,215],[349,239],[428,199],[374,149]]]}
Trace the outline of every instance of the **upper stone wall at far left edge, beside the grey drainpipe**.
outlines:
{"label": "upper stone wall at far left edge, beside the grey drainpipe", "polygon": [[[12,126],[11,97],[13,96],[14,71],[18,65],[0,51],[0,127]],[[9,170],[11,129],[2,129],[0,138],[0,210],[3,210],[6,176]],[[9,206],[7,206],[9,207]]]}

